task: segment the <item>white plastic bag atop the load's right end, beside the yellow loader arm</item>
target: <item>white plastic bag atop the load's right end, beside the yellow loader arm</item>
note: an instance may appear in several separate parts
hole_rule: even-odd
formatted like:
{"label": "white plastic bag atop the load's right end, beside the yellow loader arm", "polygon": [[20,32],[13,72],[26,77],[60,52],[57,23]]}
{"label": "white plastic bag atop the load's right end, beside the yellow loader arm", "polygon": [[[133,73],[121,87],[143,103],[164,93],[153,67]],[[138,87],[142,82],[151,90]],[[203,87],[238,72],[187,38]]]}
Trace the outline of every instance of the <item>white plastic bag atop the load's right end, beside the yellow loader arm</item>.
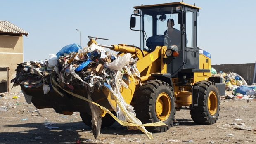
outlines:
{"label": "white plastic bag atop the load's right end, beside the yellow loader arm", "polygon": [[121,70],[125,65],[129,64],[131,58],[132,58],[132,54],[130,53],[124,54],[119,59],[115,59],[110,64],[107,64],[107,67],[109,69],[113,69],[116,71]]}

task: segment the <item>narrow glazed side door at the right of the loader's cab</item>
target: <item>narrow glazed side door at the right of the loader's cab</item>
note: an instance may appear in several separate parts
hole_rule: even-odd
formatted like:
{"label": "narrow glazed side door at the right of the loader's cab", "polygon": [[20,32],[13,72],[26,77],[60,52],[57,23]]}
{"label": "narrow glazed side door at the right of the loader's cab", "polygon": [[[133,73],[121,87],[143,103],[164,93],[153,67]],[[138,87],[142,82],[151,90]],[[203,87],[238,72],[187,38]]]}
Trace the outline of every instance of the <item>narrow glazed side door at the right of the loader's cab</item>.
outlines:
{"label": "narrow glazed side door at the right of the loader's cab", "polygon": [[184,35],[184,68],[199,68],[196,59],[199,59],[199,52],[196,50],[196,17],[195,10],[185,7],[185,35]]}

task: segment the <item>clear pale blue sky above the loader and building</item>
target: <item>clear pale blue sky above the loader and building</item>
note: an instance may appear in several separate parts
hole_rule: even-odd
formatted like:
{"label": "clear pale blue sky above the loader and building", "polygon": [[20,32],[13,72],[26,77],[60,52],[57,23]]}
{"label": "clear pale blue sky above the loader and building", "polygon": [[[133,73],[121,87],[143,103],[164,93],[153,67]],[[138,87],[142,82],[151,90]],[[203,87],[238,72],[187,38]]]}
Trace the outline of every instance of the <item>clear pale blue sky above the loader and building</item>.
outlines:
{"label": "clear pale blue sky above the loader and building", "polygon": [[[178,0],[179,1],[179,0]],[[24,37],[24,61],[44,60],[88,36],[108,38],[100,44],[140,46],[140,33],[130,31],[133,6],[173,0],[1,0],[0,20],[29,33]],[[184,0],[200,11],[200,48],[212,64],[254,63],[256,58],[255,0]]]}

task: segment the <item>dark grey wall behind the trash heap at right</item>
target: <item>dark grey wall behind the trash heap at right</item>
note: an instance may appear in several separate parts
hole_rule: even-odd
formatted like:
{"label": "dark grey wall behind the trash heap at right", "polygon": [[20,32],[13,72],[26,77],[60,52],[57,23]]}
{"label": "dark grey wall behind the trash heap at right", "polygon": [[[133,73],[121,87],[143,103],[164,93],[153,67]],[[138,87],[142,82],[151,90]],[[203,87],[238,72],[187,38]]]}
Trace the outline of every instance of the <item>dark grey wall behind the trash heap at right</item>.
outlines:
{"label": "dark grey wall behind the trash heap at right", "polygon": [[223,72],[233,72],[237,73],[244,78],[248,85],[253,83],[254,76],[254,66],[255,63],[249,64],[220,64],[220,65],[211,65],[214,69],[216,69],[217,73],[219,71]]}

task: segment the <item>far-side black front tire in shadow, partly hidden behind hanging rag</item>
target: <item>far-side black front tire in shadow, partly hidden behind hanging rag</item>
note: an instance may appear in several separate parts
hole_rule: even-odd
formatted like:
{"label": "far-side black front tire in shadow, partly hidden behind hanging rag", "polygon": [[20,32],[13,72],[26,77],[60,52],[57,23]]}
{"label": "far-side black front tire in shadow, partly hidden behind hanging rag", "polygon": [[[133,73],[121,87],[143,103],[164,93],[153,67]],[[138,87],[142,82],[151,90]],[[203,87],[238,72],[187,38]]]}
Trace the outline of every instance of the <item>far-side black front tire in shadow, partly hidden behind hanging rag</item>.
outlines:
{"label": "far-side black front tire in shadow, partly hidden behind hanging rag", "polygon": [[[88,127],[92,127],[92,115],[88,113],[80,113],[80,117],[83,120],[83,123]],[[106,115],[102,118],[101,128],[110,127],[115,123],[115,119],[110,116],[110,114],[106,113]]]}

